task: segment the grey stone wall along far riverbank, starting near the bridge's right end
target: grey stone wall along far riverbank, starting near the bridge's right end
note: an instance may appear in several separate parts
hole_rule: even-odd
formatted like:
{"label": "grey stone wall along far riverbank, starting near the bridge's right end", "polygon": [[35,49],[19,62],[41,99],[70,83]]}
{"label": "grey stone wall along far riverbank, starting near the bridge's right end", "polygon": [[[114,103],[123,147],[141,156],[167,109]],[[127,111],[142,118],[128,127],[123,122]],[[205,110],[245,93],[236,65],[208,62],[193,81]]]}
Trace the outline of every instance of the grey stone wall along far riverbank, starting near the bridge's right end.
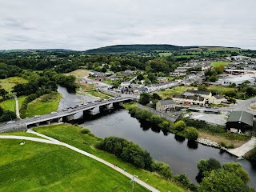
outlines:
{"label": "grey stone wall along far riverbank, starting near the bridge's right end", "polygon": [[170,113],[159,112],[159,111],[154,110],[153,108],[150,108],[148,106],[142,106],[138,102],[136,102],[136,106],[141,110],[147,110],[152,114],[159,115],[161,118],[165,118],[169,122],[175,122],[176,119],[179,117],[179,115],[182,114],[181,111],[175,111],[175,112],[170,112]]}

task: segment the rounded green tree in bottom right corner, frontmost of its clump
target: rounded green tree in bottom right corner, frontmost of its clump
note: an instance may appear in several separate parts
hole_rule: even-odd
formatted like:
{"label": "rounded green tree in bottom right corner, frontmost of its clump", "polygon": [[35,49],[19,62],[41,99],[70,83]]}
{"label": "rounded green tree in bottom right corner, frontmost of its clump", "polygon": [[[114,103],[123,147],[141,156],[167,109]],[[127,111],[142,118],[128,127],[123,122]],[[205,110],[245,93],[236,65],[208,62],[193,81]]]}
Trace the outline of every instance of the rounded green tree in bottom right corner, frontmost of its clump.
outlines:
{"label": "rounded green tree in bottom right corner, frontmost of its clump", "polygon": [[198,187],[198,192],[206,191],[250,192],[251,190],[236,174],[218,169],[212,170],[208,177],[202,179]]}

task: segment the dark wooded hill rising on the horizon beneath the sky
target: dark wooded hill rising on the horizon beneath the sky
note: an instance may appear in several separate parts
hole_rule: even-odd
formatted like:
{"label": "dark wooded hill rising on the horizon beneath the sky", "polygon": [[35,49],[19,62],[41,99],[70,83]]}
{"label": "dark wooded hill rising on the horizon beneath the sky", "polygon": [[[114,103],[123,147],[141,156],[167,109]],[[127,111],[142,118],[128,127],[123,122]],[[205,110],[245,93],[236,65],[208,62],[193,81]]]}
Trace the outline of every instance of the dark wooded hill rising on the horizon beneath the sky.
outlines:
{"label": "dark wooded hill rising on the horizon beneath the sky", "polygon": [[172,45],[117,45],[105,46],[98,49],[86,50],[86,53],[92,54],[108,54],[123,52],[144,52],[153,50],[184,50],[190,48],[198,48],[198,46],[172,46]]}

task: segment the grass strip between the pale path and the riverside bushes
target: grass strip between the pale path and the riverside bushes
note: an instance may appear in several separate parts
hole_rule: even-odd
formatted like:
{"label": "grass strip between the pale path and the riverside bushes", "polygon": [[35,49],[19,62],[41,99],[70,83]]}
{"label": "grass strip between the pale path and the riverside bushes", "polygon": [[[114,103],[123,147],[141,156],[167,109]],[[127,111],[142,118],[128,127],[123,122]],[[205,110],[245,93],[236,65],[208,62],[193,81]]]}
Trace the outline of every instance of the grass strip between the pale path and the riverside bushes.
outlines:
{"label": "grass strip between the pale path and the riverside bushes", "polygon": [[58,140],[66,142],[72,146],[76,146],[81,150],[86,150],[90,154],[94,154],[99,158],[111,162],[112,164],[117,164],[120,168],[126,168],[127,172],[129,172],[130,174],[138,175],[138,177],[142,181],[147,182],[148,184],[154,186],[160,191],[186,191],[174,185],[174,183],[161,178],[160,176],[158,176],[158,174],[150,173],[146,170],[137,169],[134,166],[130,165],[129,163],[122,162],[121,159],[116,158],[113,154],[108,154],[103,150],[96,149],[94,147],[94,144],[96,142],[101,141],[101,138],[97,138],[93,134],[81,134],[81,129],[82,128],[80,126],[72,126],[70,124],[34,128],[34,130],[36,130],[39,133],[46,134],[47,136],[50,136],[52,138],[57,138]]}

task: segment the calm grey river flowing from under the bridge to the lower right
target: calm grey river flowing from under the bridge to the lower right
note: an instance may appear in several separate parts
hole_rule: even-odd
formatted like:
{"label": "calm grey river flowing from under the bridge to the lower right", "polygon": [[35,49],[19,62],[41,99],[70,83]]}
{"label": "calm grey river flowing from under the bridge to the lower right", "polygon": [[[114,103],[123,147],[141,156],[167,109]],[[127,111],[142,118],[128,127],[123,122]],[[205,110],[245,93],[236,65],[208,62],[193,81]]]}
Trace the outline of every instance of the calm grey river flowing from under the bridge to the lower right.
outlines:
{"label": "calm grey river flowing from under the bridge to the lower right", "polygon": [[[62,90],[58,89],[58,91],[62,93]],[[72,102],[74,102],[72,97],[77,96],[78,100],[81,97],[74,95],[70,95]],[[66,98],[69,98],[69,94],[66,94]],[[66,105],[69,104],[66,103]],[[221,163],[239,162],[250,174],[249,185],[256,188],[255,164],[247,160],[238,161],[236,157],[223,150],[203,146],[174,134],[164,134],[158,127],[151,126],[146,122],[139,122],[136,118],[131,117],[127,110],[110,110],[93,117],[80,119],[78,122],[98,137],[117,136],[137,143],[143,149],[148,150],[154,159],[170,164],[174,174],[186,173],[190,181],[194,183],[196,183],[195,177],[198,174],[196,165],[202,158],[215,158]]]}

